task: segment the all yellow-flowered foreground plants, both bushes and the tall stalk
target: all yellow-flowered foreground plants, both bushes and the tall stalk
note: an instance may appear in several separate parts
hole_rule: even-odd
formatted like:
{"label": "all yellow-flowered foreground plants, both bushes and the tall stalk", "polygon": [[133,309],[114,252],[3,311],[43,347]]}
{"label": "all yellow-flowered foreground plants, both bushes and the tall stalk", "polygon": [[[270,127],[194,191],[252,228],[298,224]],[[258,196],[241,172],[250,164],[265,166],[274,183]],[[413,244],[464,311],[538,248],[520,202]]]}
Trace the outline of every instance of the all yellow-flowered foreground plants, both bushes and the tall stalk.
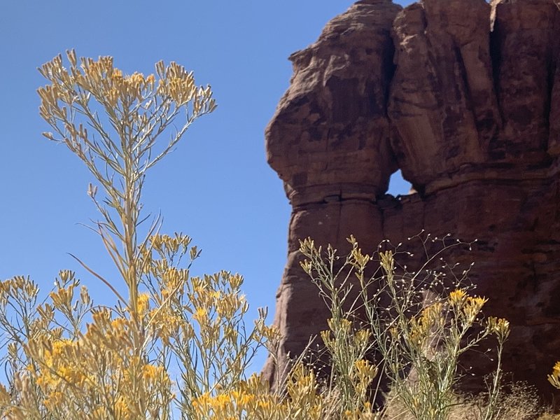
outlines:
{"label": "all yellow-flowered foreground plants, both bushes and the tall stalk", "polygon": [[[181,233],[165,235],[160,218],[142,228],[148,170],[176,146],[196,118],[215,109],[210,87],[171,63],[155,75],[123,75],[111,57],[67,53],[41,67],[45,137],[65,144],[93,176],[88,193],[99,210],[92,226],[118,270],[106,279],[86,262],[115,304],[94,304],[76,274],[59,273],[41,300],[27,277],[0,283],[0,330],[6,381],[2,419],[510,419],[540,414],[538,405],[502,392],[504,319],[484,318],[468,269],[442,281],[433,261],[449,238],[416,237],[436,251],[410,272],[400,246],[374,253],[349,238],[349,255],[302,241],[302,269],[328,304],[320,353],[293,360],[279,391],[246,377],[261,346],[276,353],[281,337],[248,304],[238,274],[190,276],[200,251]],[[183,120],[184,116],[184,120]],[[175,131],[169,130],[179,125]],[[169,136],[162,144],[161,138]],[[103,195],[98,198],[97,192]],[[118,290],[125,286],[126,294]],[[451,287],[451,288],[449,288]],[[456,394],[460,356],[493,339],[497,365],[482,400]],[[311,360],[311,361],[310,361]],[[330,374],[315,367],[327,363]],[[560,388],[560,363],[549,380]],[[384,395],[383,384],[391,393]],[[383,395],[382,395],[383,394]],[[381,408],[372,401],[384,398]],[[517,402],[515,400],[517,398]],[[534,398],[533,398],[534,400]],[[515,411],[518,410],[518,411]]]}

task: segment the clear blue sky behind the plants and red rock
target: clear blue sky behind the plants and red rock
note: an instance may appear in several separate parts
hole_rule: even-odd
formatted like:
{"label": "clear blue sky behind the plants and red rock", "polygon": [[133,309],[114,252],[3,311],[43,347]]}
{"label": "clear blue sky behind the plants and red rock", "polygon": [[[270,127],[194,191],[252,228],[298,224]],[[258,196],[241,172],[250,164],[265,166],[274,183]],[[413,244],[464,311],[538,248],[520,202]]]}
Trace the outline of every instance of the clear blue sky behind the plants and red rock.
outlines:
{"label": "clear blue sky behind the plants and red rock", "polygon": [[268,306],[272,321],[290,206],[266,163],[263,131],[288,87],[288,55],[314,42],[352,3],[2,1],[0,280],[30,275],[46,292],[59,269],[74,269],[97,302],[112,302],[109,290],[67,254],[113,273],[99,238],[79,225],[97,219],[86,195],[89,174],[64,146],[41,136],[49,127],[38,116],[36,88],[45,82],[36,68],[69,48],[80,56],[112,55],[125,73],[153,73],[163,59],[210,83],[218,109],[151,173],[145,209],[162,212],[163,232],[182,231],[202,248],[195,272],[244,274],[248,302]]}

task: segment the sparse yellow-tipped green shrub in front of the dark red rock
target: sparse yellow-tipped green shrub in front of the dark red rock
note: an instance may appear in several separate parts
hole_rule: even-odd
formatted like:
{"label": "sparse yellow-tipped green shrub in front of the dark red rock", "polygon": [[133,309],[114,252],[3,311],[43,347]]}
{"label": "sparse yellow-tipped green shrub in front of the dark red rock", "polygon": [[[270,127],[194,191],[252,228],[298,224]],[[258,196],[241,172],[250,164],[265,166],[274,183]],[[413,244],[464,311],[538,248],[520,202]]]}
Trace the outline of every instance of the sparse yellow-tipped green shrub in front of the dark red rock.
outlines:
{"label": "sparse yellow-tipped green shrub in front of the dark red rock", "polygon": [[[323,252],[311,239],[302,241],[300,251],[307,258],[302,267],[332,315],[330,330],[321,333],[332,367],[330,381],[339,390],[345,411],[362,410],[366,401],[376,398],[379,381],[367,387],[379,372],[378,378],[387,379],[394,397],[414,419],[447,419],[457,404],[459,357],[494,335],[497,366],[482,417],[493,419],[498,414],[501,353],[509,323],[482,317],[486,299],[468,293],[468,269],[457,276],[454,267],[441,263],[442,253],[450,247],[468,244],[429,235],[417,239],[426,251],[428,241],[441,246],[415,272],[398,267],[395,255],[407,255],[398,247],[381,250],[390,248],[388,242],[364,254],[350,237],[351,252],[341,257],[331,246]],[[440,269],[433,268],[436,263]],[[366,274],[368,268],[373,274]],[[377,357],[370,360],[368,354]]]}

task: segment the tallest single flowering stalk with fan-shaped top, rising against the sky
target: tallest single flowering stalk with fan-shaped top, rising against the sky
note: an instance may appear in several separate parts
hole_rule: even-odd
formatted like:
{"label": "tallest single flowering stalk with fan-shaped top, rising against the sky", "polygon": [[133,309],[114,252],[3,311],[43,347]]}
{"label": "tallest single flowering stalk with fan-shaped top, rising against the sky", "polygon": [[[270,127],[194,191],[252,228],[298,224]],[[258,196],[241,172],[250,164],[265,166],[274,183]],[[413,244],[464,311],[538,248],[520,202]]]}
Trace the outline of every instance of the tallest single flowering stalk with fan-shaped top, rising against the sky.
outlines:
{"label": "tallest single flowering stalk with fan-shaped top, rising against the sky", "polygon": [[[146,172],[172,150],[196,118],[214,111],[216,104],[211,88],[197,87],[193,73],[174,62],[155,64],[156,75],[125,76],[113,66],[112,57],[82,58],[78,64],[73,50],[66,55],[68,69],[61,55],[39,69],[50,82],[38,89],[39,113],[55,130],[43,135],[66,144],[106,193],[99,202],[97,186],[88,190],[104,219],[97,230],[125,280],[132,314],[137,314],[137,228]],[[186,120],[161,146],[159,137],[183,113]]]}

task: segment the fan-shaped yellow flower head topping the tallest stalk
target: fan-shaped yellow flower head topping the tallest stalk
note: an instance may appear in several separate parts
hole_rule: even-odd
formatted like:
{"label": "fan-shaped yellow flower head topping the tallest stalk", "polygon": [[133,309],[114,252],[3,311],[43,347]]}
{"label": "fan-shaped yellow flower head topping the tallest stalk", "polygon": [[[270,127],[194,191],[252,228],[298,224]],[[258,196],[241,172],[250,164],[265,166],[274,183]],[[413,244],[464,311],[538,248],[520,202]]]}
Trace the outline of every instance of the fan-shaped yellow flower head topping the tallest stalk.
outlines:
{"label": "fan-shaped yellow flower head topping the tallest stalk", "polygon": [[[50,83],[38,89],[41,97],[39,113],[62,139],[56,139],[52,133],[43,133],[45,137],[63,141],[85,162],[89,158],[85,151],[94,150],[113,169],[119,166],[115,159],[118,142],[113,141],[109,131],[102,127],[90,99],[95,99],[104,109],[116,134],[127,144],[123,151],[137,156],[148,152],[155,137],[172,123],[179,109],[188,110],[188,120],[174,135],[170,146],[179,141],[195,118],[216,108],[211,88],[197,87],[193,73],[174,62],[169,66],[158,62],[156,75],[144,76],[139,72],[123,75],[113,66],[112,57],[82,58],[78,63],[73,50],[67,51],[66,56],[69,69],[63,65],[62,55],[39,69]],[[90,139],[85,125],[76,123],[77,115],[90,120],[90,126],[102,143],[96,144]],[[154,158],[159,160],[162,155]],[[87,163],[95,173],[97,169],[91,166],[93,162]],[[102,180],[101,175],[97,178]],[[104,187],[111,188],[109,184]]]}

